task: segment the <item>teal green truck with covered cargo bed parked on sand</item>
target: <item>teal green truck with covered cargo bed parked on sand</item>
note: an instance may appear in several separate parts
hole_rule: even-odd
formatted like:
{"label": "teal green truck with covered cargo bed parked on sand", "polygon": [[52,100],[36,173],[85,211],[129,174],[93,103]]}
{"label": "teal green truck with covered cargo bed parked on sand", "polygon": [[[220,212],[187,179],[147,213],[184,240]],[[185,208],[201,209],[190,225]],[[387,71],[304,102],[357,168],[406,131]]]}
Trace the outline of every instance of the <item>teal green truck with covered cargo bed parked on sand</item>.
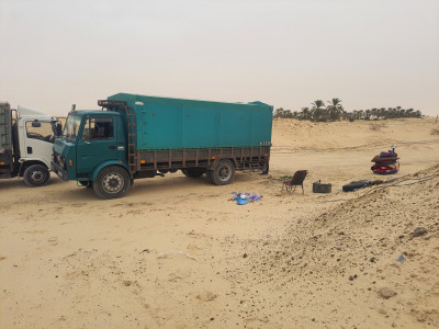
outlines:
{"label": "teal green truck with covered cargo bed parked on sand", "polygon": [[216,185],[237,170],[268,173],[273,107],[117,93],[101,111],[72,110],[55,140],[52,170],[93,188],[101,198],[123,196],[134,179],[181,170]]}

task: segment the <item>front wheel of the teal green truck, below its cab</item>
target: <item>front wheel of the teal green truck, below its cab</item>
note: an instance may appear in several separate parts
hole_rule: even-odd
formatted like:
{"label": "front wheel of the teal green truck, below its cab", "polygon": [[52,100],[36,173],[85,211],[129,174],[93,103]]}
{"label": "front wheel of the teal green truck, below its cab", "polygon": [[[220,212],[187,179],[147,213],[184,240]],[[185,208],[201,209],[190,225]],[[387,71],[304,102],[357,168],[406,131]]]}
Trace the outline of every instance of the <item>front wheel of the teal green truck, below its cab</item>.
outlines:
{"label": "front wheel of the teal green truck, below its cab", "polygon": [[93,190],[100,198],[117,198],[130,190],[130,185],[131,179],[126,170],[119,166],[110,166],[98,173]]}

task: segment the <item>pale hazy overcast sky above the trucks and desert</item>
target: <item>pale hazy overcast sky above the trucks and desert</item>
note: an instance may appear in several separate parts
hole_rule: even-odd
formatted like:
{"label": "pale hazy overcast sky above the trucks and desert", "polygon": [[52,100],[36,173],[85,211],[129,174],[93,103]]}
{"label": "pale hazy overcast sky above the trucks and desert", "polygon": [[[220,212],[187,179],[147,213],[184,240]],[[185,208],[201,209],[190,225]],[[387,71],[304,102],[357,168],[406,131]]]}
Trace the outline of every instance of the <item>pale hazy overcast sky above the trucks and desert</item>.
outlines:
{"label": "pale hazy overcast sky above the trucks and desert", "polygon": [[139,93],[439,114],[438,0],[0,0],[0,101]]}

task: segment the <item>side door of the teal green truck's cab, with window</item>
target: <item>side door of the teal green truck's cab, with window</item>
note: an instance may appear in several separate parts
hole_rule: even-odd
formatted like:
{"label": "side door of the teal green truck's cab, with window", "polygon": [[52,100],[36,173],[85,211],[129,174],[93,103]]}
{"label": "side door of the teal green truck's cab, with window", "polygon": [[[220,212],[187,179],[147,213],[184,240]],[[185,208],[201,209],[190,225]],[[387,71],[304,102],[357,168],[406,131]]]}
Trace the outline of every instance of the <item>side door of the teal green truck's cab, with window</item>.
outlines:
{"label": "side door of the teal green truck's cab, with window", "polygon": [[102,162],[117,160],[117,134],[112,116],[87,117],[77,146],[77,178],[90,179]]}

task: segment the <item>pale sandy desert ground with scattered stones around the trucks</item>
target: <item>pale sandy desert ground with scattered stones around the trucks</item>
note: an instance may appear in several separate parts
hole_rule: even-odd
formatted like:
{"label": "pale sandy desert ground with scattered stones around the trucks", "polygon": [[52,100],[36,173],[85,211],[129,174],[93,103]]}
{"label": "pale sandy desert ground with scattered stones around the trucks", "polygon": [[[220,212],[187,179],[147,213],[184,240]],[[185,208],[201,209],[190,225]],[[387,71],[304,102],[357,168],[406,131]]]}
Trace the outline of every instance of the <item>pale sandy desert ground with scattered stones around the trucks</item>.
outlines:
{"label": "pale sandy desert ground with scattered stones around the trucks", "polygon": [[[175,173],[112,201],[54,174],[40,189],[2,180],[0,327],[438,327],[434,128],[274,121],[268,177],[214,186]],[[392,144],[397,186],[338,191],[383,179],[370,160]],[[305,194],[281,193],[300,169]],[[333,193],[312,193],[317,180]],[[263,197],[238,206],[233,191]]]}

